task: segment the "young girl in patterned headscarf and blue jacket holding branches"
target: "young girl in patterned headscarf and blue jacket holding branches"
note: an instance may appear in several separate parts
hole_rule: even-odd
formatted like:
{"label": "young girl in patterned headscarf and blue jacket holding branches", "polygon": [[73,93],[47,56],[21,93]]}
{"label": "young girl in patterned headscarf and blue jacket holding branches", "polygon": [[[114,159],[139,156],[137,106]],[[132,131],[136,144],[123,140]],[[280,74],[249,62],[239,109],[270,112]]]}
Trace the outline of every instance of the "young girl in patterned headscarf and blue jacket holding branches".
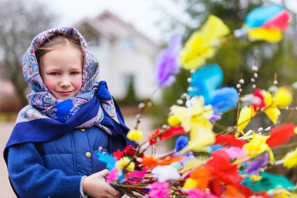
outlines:
{"label": "young girl in patterned headscarf and blue jacket holding branches", "polygon": [[99,148],[108,153],[134,145],[106,82],[93,80],[96,57],[74,28],[35,37],[23,73],[32,93],[4,149],[18,198],[117,198]]}

